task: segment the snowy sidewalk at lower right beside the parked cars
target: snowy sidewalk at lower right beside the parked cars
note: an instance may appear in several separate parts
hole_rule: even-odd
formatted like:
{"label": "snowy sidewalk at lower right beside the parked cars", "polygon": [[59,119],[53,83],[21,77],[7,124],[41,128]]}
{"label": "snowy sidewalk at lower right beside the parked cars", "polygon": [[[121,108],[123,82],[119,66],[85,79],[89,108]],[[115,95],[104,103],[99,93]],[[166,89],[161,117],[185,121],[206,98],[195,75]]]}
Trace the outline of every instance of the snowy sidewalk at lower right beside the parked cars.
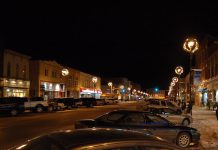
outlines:
{"label": "snowy sidewalk at lower right beside the parked cars", "polygon": [[215,111],[205,107],[193,107],[192,127],[197,128],[201,133],[201,145],[206,150],[218,149],[218,121]]}

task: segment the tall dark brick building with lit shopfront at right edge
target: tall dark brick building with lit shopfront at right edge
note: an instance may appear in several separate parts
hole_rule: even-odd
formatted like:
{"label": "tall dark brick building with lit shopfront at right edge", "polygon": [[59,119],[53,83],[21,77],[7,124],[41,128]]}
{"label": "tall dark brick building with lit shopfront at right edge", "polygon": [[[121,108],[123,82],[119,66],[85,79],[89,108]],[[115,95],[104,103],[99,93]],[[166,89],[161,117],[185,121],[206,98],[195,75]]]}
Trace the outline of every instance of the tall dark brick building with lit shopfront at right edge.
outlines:
{"label": "tall dark brick building with lit shopfront at right edge", "polygon": [[207,36],[196,53],[196,67],[201,69],[200,84],[196,87],[199,105],[218,102],[218,38]]}

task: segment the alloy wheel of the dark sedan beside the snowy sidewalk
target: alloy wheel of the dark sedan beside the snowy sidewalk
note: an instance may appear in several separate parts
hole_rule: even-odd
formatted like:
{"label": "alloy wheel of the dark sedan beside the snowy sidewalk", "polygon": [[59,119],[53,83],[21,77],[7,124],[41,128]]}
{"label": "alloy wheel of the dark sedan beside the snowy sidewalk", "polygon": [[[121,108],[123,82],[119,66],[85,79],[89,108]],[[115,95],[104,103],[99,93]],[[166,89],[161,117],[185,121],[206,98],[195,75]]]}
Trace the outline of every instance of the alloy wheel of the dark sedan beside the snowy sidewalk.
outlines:
{"label": "alloy wheel of the dark sedan beside the snowy sidewalk", "polygon": [[183,132],[178,135],[176,141],[178,146],[185,148],[191,143],[191,137],[188,133]]}

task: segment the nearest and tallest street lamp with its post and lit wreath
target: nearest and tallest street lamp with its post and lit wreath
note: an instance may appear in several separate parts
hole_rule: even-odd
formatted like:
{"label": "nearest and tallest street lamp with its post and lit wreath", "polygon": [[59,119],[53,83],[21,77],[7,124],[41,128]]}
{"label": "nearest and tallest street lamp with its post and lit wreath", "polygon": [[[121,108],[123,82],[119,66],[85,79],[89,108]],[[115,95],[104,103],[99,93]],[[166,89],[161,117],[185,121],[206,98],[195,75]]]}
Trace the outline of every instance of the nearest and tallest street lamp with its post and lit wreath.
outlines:
{"label": "nearest and tallest street lamp with its post and lit wreath", "polygon": [[192,57],[193,54],[198,50],[199,44],[198,41],[194,38],[187,38],[183,44],[183,49],[190,54],[190,73],[189,73],[189,101],[191,104],[193,104],[192,100],[192,82],[191,82],[191,72],[192,72]]}

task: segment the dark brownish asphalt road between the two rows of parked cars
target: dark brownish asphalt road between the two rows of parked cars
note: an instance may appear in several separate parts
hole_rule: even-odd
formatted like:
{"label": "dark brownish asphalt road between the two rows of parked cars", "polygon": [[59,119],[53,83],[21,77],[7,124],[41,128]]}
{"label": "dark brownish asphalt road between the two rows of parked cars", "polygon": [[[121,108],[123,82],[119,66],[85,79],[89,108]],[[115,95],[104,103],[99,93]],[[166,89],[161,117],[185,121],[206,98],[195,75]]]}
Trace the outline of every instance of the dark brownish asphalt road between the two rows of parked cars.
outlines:
{"label": "dark brownish asphalt road between the two rows of parked cars", "polygon": [[122,103],[52,113],[26,113],[16,117],[0,117],[0,150],[52,131],[74,129],[76,120],[95,118],[116,109],[135,109],[135,104]]}

